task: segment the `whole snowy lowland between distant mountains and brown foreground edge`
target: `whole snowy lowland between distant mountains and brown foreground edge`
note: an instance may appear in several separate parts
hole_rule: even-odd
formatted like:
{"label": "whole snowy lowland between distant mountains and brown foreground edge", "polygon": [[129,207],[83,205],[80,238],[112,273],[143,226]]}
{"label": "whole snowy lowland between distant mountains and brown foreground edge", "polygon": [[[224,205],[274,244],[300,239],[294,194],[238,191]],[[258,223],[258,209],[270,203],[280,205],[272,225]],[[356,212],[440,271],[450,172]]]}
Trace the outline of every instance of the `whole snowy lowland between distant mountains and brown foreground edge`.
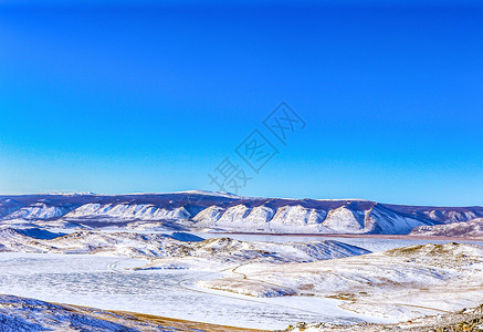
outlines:
{"label": "whole snowy lowland between distant mountains and brown foreground edge", "polygon": [[[230,240],[227,235],[197,234],[212,239],[186,242],[177,238],[196,237],[116,229],[49,239],[44,232],[23,232],[48,239],[29,240],[24,234],[0,230],[4,250],[32,251],[0,252],[0,293],[50,302],[284,329],[301,321],[399,322],[438,312],[424,305],[424,299],[434,302],[459,294],[453,302],[442,302],[440,309],[451,311],[476,305],[483,298],[477,246],[454,247],[464,257],[475,256],[470,266],[444,266],[448,257],[408,262],[416,257],[380,252],[428,240],[253,235],[231,235],[237,240]],[[367,251],[343,242],[378,252],[350,257]],[[434,291],[421,299],[421,289]],[[395,299],[405,305],[390,305]]]}

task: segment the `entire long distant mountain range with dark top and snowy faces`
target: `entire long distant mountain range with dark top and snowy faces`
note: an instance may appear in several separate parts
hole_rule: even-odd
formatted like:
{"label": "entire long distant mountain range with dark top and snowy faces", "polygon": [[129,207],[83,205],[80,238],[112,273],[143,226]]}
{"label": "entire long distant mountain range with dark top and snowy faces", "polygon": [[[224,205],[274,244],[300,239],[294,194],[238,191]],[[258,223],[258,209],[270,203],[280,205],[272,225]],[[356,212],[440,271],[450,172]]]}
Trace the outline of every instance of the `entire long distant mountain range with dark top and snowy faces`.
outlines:
{"label": "entire long distant mountain range with dark top and snowy faces", "polygon": [[409,234],[465,222],[483,207],[424,207],[361,199],[241,197],[225,193],[0,196],[0,227],[73,227],[276,234]]}

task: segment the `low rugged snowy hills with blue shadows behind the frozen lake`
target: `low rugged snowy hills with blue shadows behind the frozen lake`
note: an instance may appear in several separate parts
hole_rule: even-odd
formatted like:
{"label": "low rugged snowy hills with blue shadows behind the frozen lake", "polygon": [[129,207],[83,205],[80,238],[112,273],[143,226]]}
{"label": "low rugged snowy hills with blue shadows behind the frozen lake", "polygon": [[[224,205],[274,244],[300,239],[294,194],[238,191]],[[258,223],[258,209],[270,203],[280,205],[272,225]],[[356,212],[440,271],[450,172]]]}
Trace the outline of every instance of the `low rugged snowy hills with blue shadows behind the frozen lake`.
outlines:
{"label": "low rugged snowy hills with blue shadows behind the frozen lake", "polygon": [[[365,255],[370,251],[338,241],[248,242],[231,238],[204,240],[174,232],[98,232],[76,231],[69,235],[39,229],[0,229],[0,251],[42,253],[95,253],[135,258],[177,258],[201,261],[238,262],[306,262]],[[159,261],[164,262],[164,261]]]}

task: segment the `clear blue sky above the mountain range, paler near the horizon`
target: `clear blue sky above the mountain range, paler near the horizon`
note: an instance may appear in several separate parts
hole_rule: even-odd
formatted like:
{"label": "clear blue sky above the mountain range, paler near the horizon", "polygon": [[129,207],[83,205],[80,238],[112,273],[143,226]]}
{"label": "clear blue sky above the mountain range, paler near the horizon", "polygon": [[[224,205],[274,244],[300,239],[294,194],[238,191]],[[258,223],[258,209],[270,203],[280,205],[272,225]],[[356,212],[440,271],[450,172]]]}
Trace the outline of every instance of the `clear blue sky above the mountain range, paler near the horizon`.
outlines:
{"label": "clear blue sky above the mountain range, paler near the horizon", "polygon": [[[240,194],[483,205],[477,2],[14,2],[0,194],[217,190],[259,128],[280,153]],[[281,101],[306,123],[286,146]]]}

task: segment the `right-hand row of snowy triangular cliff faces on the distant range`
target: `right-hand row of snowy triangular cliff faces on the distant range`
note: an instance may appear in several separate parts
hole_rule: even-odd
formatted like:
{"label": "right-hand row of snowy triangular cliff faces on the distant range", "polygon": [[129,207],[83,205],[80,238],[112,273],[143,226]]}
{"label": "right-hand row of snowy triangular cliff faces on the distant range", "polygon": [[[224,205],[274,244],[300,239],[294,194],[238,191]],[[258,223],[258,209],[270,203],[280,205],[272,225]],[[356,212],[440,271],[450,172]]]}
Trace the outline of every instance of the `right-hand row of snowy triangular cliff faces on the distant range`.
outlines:
{"label": "right-hand row of snowy triangular cliff faces on the distant range", "polygon": [[193,227],[244,232],[293,234],[408,234],[412,228],[433,225],[379,205],[357,209],[345,205],[335,209],[306,208],[302,205],[229,208],[210,206],[195,216]]}

